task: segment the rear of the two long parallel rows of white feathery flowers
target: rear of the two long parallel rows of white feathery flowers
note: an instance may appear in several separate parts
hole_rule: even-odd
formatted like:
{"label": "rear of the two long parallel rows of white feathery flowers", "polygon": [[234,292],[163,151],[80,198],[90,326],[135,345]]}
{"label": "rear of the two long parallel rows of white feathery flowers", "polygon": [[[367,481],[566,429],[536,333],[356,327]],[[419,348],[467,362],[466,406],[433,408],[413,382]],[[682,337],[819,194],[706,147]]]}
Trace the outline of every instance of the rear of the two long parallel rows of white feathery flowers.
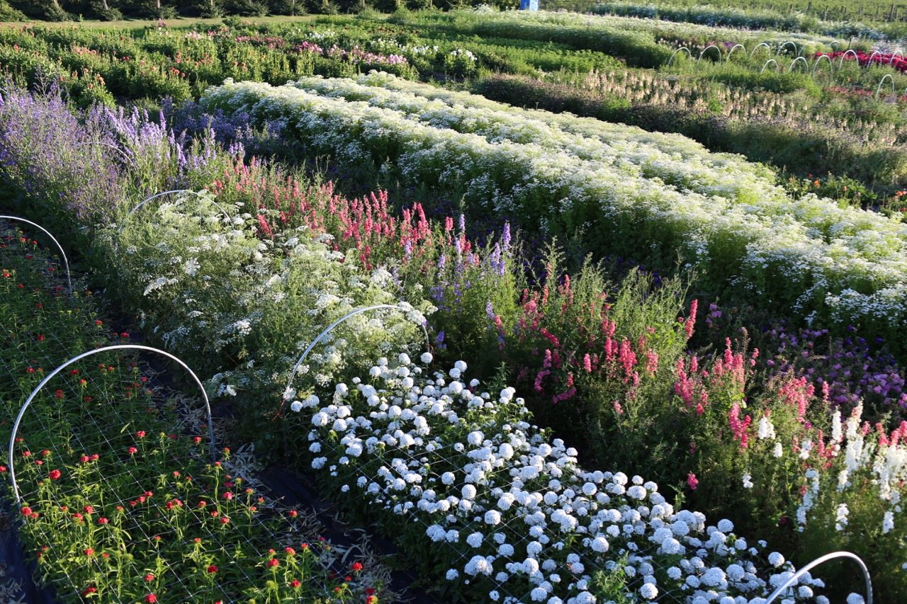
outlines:
{"label": "rear of the two long parallel rows of white feathery flowers", "polygon": [[478,134],[492,142],[532,143],[563,151],[601,168],[625,171],[628,178],[658,178],[680,190],[731,201],[745,195],[784,198],[784,192],[774,185],[772,175],[762,165],[737,155],[711,153],[675,134],[515,108],[481,95],[447,91],[374,71],[356,81],[308,77],[291,84],[324,96],[366,101],[436,128]]}

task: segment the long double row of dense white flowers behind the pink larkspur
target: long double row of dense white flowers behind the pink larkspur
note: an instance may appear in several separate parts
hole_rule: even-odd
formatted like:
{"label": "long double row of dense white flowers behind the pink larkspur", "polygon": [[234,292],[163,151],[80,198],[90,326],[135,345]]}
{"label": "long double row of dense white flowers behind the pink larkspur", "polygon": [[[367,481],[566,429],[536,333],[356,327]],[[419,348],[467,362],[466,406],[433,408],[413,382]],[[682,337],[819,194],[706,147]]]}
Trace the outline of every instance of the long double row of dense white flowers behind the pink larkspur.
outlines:
{"label": "long double row of dense white flowers behind the pink larkspur", "polygon": [[[406,93],[394,99],[368,90],[370,82]],[[736,286],[766,304],[799,296],[801,316],[817,311],[875,326],[907,321],[907,224],[814,196],[791,200],[760,169],[678,136],[429,93],[385,74],[300,85],[325,93],[228,81],[202,102],[259,122],[286,119],[307,144],[350,162],[397,149],[385,168],[402,180],[465,189],[468,203],[521,215],[552,233],[592,209],[600,229],[658,225],[705,270],[739,262]]]}

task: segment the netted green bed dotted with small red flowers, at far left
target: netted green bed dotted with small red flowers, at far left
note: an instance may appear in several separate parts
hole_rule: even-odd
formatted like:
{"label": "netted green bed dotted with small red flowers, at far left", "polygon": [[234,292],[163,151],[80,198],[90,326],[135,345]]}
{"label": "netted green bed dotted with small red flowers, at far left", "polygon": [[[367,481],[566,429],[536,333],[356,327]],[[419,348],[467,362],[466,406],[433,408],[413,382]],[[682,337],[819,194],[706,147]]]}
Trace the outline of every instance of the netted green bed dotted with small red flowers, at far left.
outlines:
{"label": "netted green bed dotted with small red flowers, at far left", "polygon": [[[55,365],[108,334],[83,298],[74,309],[61,299],[30,240],[6,236],[2,245],[0,402],[12,418]],[[206,462],[208,426],[198,420],[208,414],[180,404],[156,393],[122,349],[66,366],[34,395],[9,470],[21,489],[21,531],[58,599],[235,601],[293,594],[299,580],[307,593],[333,593],[337,582],[323,579],[336,553],[320,545],[317,525],[230,476],[229,461]]]}

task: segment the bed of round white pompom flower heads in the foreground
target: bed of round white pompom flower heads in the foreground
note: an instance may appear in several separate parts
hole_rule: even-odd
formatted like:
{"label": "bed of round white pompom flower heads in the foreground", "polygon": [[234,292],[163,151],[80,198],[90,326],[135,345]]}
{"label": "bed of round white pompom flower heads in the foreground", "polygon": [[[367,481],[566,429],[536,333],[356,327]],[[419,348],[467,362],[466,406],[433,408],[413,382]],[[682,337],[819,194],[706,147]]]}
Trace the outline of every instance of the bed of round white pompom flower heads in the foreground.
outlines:
{"label": "bed of round white pompom flower heads in the foreground", "polygon": [[[763,558],[765,543],[675,510],[654,482],[582,471],[575,450],[524,421],[512,388],[480,392],[466,369],[428,376],[406,355],[382,358],[367,382],[300,410],[312,467],[369,509],[420,526],[425,550],[451,560],[446,579],[469,584],[470,598],[603,601],[595,578],[605,573],[623,582],[621,601],[764,602],[792,576],[777,552]],[[806,576],[790,601],[821,585]]]}

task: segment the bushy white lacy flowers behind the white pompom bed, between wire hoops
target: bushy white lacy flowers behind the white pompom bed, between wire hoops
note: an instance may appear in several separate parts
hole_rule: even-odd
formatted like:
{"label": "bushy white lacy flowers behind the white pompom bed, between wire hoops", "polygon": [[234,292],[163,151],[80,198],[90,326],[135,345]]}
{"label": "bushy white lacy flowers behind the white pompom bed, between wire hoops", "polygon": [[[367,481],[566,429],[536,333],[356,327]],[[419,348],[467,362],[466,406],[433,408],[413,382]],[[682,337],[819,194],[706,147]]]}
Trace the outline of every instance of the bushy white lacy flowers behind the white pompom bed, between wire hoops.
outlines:
{"label": "bushy white lacy flowers behind the white pompom bed, between wire hoops", "polygon": [[184,200],[192,203],[146,209],[141,222],[122,229],[117,236],[125,253],[118,266],[124,287],[144,287],[138,304],[169,350],[199,359],[196,365],[224,351],[242,359],[210,381],[216,395],[286,382],[288,368],[324,326],[357,307],[390,304],[402,312],[350,318],[336,336],[319,341],[297,375],[308,373],[307,381],[326,385],[348,363],[367,363],[389,346],[405,346],[434,311],[415,299],[417,307],[397,305],[394,279],[385,269],[368,274],[355,258],[328,247],[325,234],[313,237],[300,226],[262,237],[257,216],[234,209],[224,218],[207,207],[207,194],[178,201]]}

